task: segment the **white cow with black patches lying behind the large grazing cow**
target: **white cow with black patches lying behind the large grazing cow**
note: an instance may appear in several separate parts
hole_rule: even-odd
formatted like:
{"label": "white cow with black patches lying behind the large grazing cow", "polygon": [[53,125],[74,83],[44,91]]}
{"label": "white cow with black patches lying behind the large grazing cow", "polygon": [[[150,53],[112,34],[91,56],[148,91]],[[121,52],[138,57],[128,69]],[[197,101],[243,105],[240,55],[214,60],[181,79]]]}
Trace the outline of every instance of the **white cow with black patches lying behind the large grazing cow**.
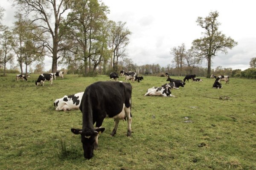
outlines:
{"label": "white cow with black patches lying behind the large grazing cow", "polygon": [[56,99],[53,103],[56,111],[70,111],[72,109],[79,109],[81,99],[84,92],[72,94],[70,96],[64,96],[60,99]]}

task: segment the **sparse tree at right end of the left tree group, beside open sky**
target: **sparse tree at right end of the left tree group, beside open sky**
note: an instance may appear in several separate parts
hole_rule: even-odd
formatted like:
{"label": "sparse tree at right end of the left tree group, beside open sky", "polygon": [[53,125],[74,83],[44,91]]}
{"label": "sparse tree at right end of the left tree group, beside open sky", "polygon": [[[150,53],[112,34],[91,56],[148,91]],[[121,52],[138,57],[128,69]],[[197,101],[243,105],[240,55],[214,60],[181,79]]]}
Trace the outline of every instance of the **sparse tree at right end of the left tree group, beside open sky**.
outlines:
{"label": "sparse tree at right end of the left tree group, beside open sky", "polygon": [[126,23],[119,21],[117,24],[113,25],[111,30],[111,48],[113,53],[113,71],[118,69],[118,59],[126,57],[126,46],[129,43],[128,36],[131,34],[131,31],[125,27]]}

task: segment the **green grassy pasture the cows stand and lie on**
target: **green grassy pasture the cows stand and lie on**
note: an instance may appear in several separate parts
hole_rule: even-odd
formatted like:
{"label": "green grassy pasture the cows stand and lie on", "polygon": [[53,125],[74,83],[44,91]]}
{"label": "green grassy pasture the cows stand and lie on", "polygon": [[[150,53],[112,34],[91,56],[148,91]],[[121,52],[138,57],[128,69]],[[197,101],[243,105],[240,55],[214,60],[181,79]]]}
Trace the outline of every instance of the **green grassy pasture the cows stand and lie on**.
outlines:
{"label": "green grassy pasture the cows stand and lie on", "polygon": [[168,98],[143,96],[166,83],[144,76],[131,83],[131,137],[125,121],[111,137],[113,119],[105,119],[99,147],[86,160],[81,136],[70,131],[81,128],[81,112],[55,111],[53,102],[109,77],[64,75],[44,87],[35,86],[37,78],[0,77],[1,170],[256,170],[255,79],[231,77],[213,89],[214,79],[199,77],[203,82],[189,80]]}

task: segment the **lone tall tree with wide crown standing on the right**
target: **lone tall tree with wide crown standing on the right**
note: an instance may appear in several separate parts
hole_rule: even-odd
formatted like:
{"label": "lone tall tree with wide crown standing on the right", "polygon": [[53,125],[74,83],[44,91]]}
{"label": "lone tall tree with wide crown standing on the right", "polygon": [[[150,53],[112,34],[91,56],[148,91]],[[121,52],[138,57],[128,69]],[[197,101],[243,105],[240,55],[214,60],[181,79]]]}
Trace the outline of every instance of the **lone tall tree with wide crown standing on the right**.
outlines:
{"label": "lone tall tree with wide crown standing on the right", "polygon": [[211,59],[217,55],[219,51],[227,54],[227,49],[232,49],[238,44],[231,37],[226,37],[219,31],[221,25],[218,21],[218,11],[210,12],[209,16],[203,18],[198,17],[196,23],[204,29],[202,32],[203,37],[193,40],[192,50],[197,54],[200,59],[207,59],[207,78],[211,74]]}

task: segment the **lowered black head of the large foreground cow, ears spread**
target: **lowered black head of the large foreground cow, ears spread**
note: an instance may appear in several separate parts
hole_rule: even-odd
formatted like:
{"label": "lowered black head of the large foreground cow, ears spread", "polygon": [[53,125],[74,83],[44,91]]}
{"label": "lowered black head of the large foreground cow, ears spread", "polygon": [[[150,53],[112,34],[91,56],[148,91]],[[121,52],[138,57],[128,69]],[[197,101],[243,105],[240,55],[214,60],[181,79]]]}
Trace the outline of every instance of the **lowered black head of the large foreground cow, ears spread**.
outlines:
{"label": "lowered black head of the large foreground cow, ears spread", "polygon": [[74,134],[81,134],[81,142],[84,149],[84,158],[91,159],[93,157],[93,149],[98,146],[98,135],[105,130],[105,127],[97,129],[71,129]]}

